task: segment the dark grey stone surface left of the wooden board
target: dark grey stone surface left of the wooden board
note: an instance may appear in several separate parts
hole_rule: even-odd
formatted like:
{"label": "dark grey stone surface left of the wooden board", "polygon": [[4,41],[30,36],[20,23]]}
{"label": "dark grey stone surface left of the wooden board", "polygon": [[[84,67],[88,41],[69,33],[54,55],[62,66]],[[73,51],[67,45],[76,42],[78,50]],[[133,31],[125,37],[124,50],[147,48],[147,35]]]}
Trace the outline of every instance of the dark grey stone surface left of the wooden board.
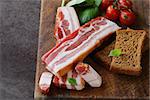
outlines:
{"label": "dark grey stone surface left of the wooden board", "polygon": [[32,100],[40,0],[0,0],[0,100]]}

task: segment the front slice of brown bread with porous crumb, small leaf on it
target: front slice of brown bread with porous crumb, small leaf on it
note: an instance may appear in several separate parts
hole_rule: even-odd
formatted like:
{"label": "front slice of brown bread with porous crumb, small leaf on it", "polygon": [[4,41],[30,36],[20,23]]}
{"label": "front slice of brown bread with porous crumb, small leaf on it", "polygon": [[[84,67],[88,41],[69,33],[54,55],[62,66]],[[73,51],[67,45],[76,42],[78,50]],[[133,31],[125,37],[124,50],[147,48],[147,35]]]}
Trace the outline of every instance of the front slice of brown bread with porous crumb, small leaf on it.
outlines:
{"label": "front slice of brown bread with porous crumb, small leaf on it", "polygon": [[145,36],[144,30],[117,31],[115,49],[121,49],[122,55],[112,58],[110,70],[122,74],[139,75],[142,71],[141,51]]}

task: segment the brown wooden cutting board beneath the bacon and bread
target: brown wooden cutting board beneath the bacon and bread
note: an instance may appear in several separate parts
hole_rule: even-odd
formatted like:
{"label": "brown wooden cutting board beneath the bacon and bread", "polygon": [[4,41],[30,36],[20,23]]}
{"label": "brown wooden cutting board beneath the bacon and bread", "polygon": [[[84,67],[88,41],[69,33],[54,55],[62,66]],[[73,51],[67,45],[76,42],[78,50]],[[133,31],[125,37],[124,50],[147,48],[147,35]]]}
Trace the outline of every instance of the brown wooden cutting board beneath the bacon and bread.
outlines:
{"label": "brown wooden cutting board beneath the bacon and bread", "polygon": [[[99,51],[95,57],[89,55],[84,61],[94,67],[103,78],[103,84],[100,88],[91,88],[86,86],[82,91],[66,90],[56,88],[51,85],[50,93],[44,95],[38,87],[41,73],[45,71],[45,65],[41,62],[41,56],[55,45],[53,30],[55,24],[55,15],[57,7],[61,0],[41,0],[40,31],[38,41],[38,56],[35,78],[35,99],[47,98],[99,98],[99,99],[129,99],[129,98],[149,98],[149,54],[144,53],[142,59],[143,73],[139,77],[118,75],[108,71],[99,61]],[[140,20],[140,28],[149,32],[149,0],[134,0],[134,10],[137,12]],[[93,58],[97,58],[96,61]]]}

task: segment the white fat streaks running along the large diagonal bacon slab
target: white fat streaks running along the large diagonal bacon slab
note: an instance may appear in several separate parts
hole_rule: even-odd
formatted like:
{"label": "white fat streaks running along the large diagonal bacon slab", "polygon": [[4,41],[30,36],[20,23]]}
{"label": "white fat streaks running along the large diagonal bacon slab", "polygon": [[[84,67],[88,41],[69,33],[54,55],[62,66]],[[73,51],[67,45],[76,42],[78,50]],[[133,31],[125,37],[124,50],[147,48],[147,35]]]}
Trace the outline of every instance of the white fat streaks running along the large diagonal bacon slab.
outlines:
{"label": "white fat streaks running along the large diagonal bacon slab", "polygon": [[[102,25],[100,26],[100,30],[96,31],[95,33],[92,33],[92,35],[86,40],[84,41],[81,45],[79,45],[76,49],[81,48],[85,43],[87,43],[87,46],[79,51],[78,53],[76,53],[74,56],[70,57],[69,59],[67,59],[66,61],[64,61],[63,63],[59,64],[59,65],[54,65],[54,63],[56,63],[57,61],[61,60],[61,58],[63,58],[64,56],[71,54],[73,51],[75,51],[76,49],[70,50],[70,51],[65,51],[66,48],[64,48],[55,59],[53,59],[52,62],[50,62],[48,64],[48,69],[50,69],[51,67],[54,67],[53,69],[53,73],[56,74],[59,70],[61,70],[62,68],[68,66],[69,64],[73,63],[75,59],[77,59],[81,54],[87,52],[89,49],[93,48],[93,46],[95,46],[95,44],[97,43],[97,41],[103,39],[105,36],[108,36],[110,33],[115,32],[116,30],[120,29],[120,27],[117,26],[117,24],[105,19],[107,22],[107,25]],[[91,30],[93,26],[90,26],[89,28],[86,28],[86,30]],[[85,33],[85,32],[84,32]],[[79,32],[79,35],[72,39],[69,40],[65,43],[63,43],[61,46],[65,45],[65,44],[69,44],[71,45],[72,43],[74,43],[75,41],[77,41],[77,39],[82,35],[82,32]],[[95,36],[95,39],[92,39],[90,43],[88,43],[88,41]],[[61,47],[60,46],[60,47]],[[60,47],[58,47],[57,49],[59,49]],[[56,49],[56,50],[57,50]],[[50,70],[51,71],[51,70]]]}

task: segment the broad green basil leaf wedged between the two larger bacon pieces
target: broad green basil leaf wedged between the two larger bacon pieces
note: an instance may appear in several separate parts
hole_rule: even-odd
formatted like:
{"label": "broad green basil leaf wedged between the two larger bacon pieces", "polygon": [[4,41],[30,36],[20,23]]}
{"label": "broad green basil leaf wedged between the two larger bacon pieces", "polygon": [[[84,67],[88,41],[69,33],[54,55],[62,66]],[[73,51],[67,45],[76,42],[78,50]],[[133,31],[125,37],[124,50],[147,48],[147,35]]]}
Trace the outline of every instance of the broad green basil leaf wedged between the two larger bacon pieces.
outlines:
{"label": "broad green basil leaf wedged between the two larger bacon pieces", "polygon": [[97,17],[99,12],[98,7],[88,7],[78,12],[80,23],[83,25],[91,19]]}

